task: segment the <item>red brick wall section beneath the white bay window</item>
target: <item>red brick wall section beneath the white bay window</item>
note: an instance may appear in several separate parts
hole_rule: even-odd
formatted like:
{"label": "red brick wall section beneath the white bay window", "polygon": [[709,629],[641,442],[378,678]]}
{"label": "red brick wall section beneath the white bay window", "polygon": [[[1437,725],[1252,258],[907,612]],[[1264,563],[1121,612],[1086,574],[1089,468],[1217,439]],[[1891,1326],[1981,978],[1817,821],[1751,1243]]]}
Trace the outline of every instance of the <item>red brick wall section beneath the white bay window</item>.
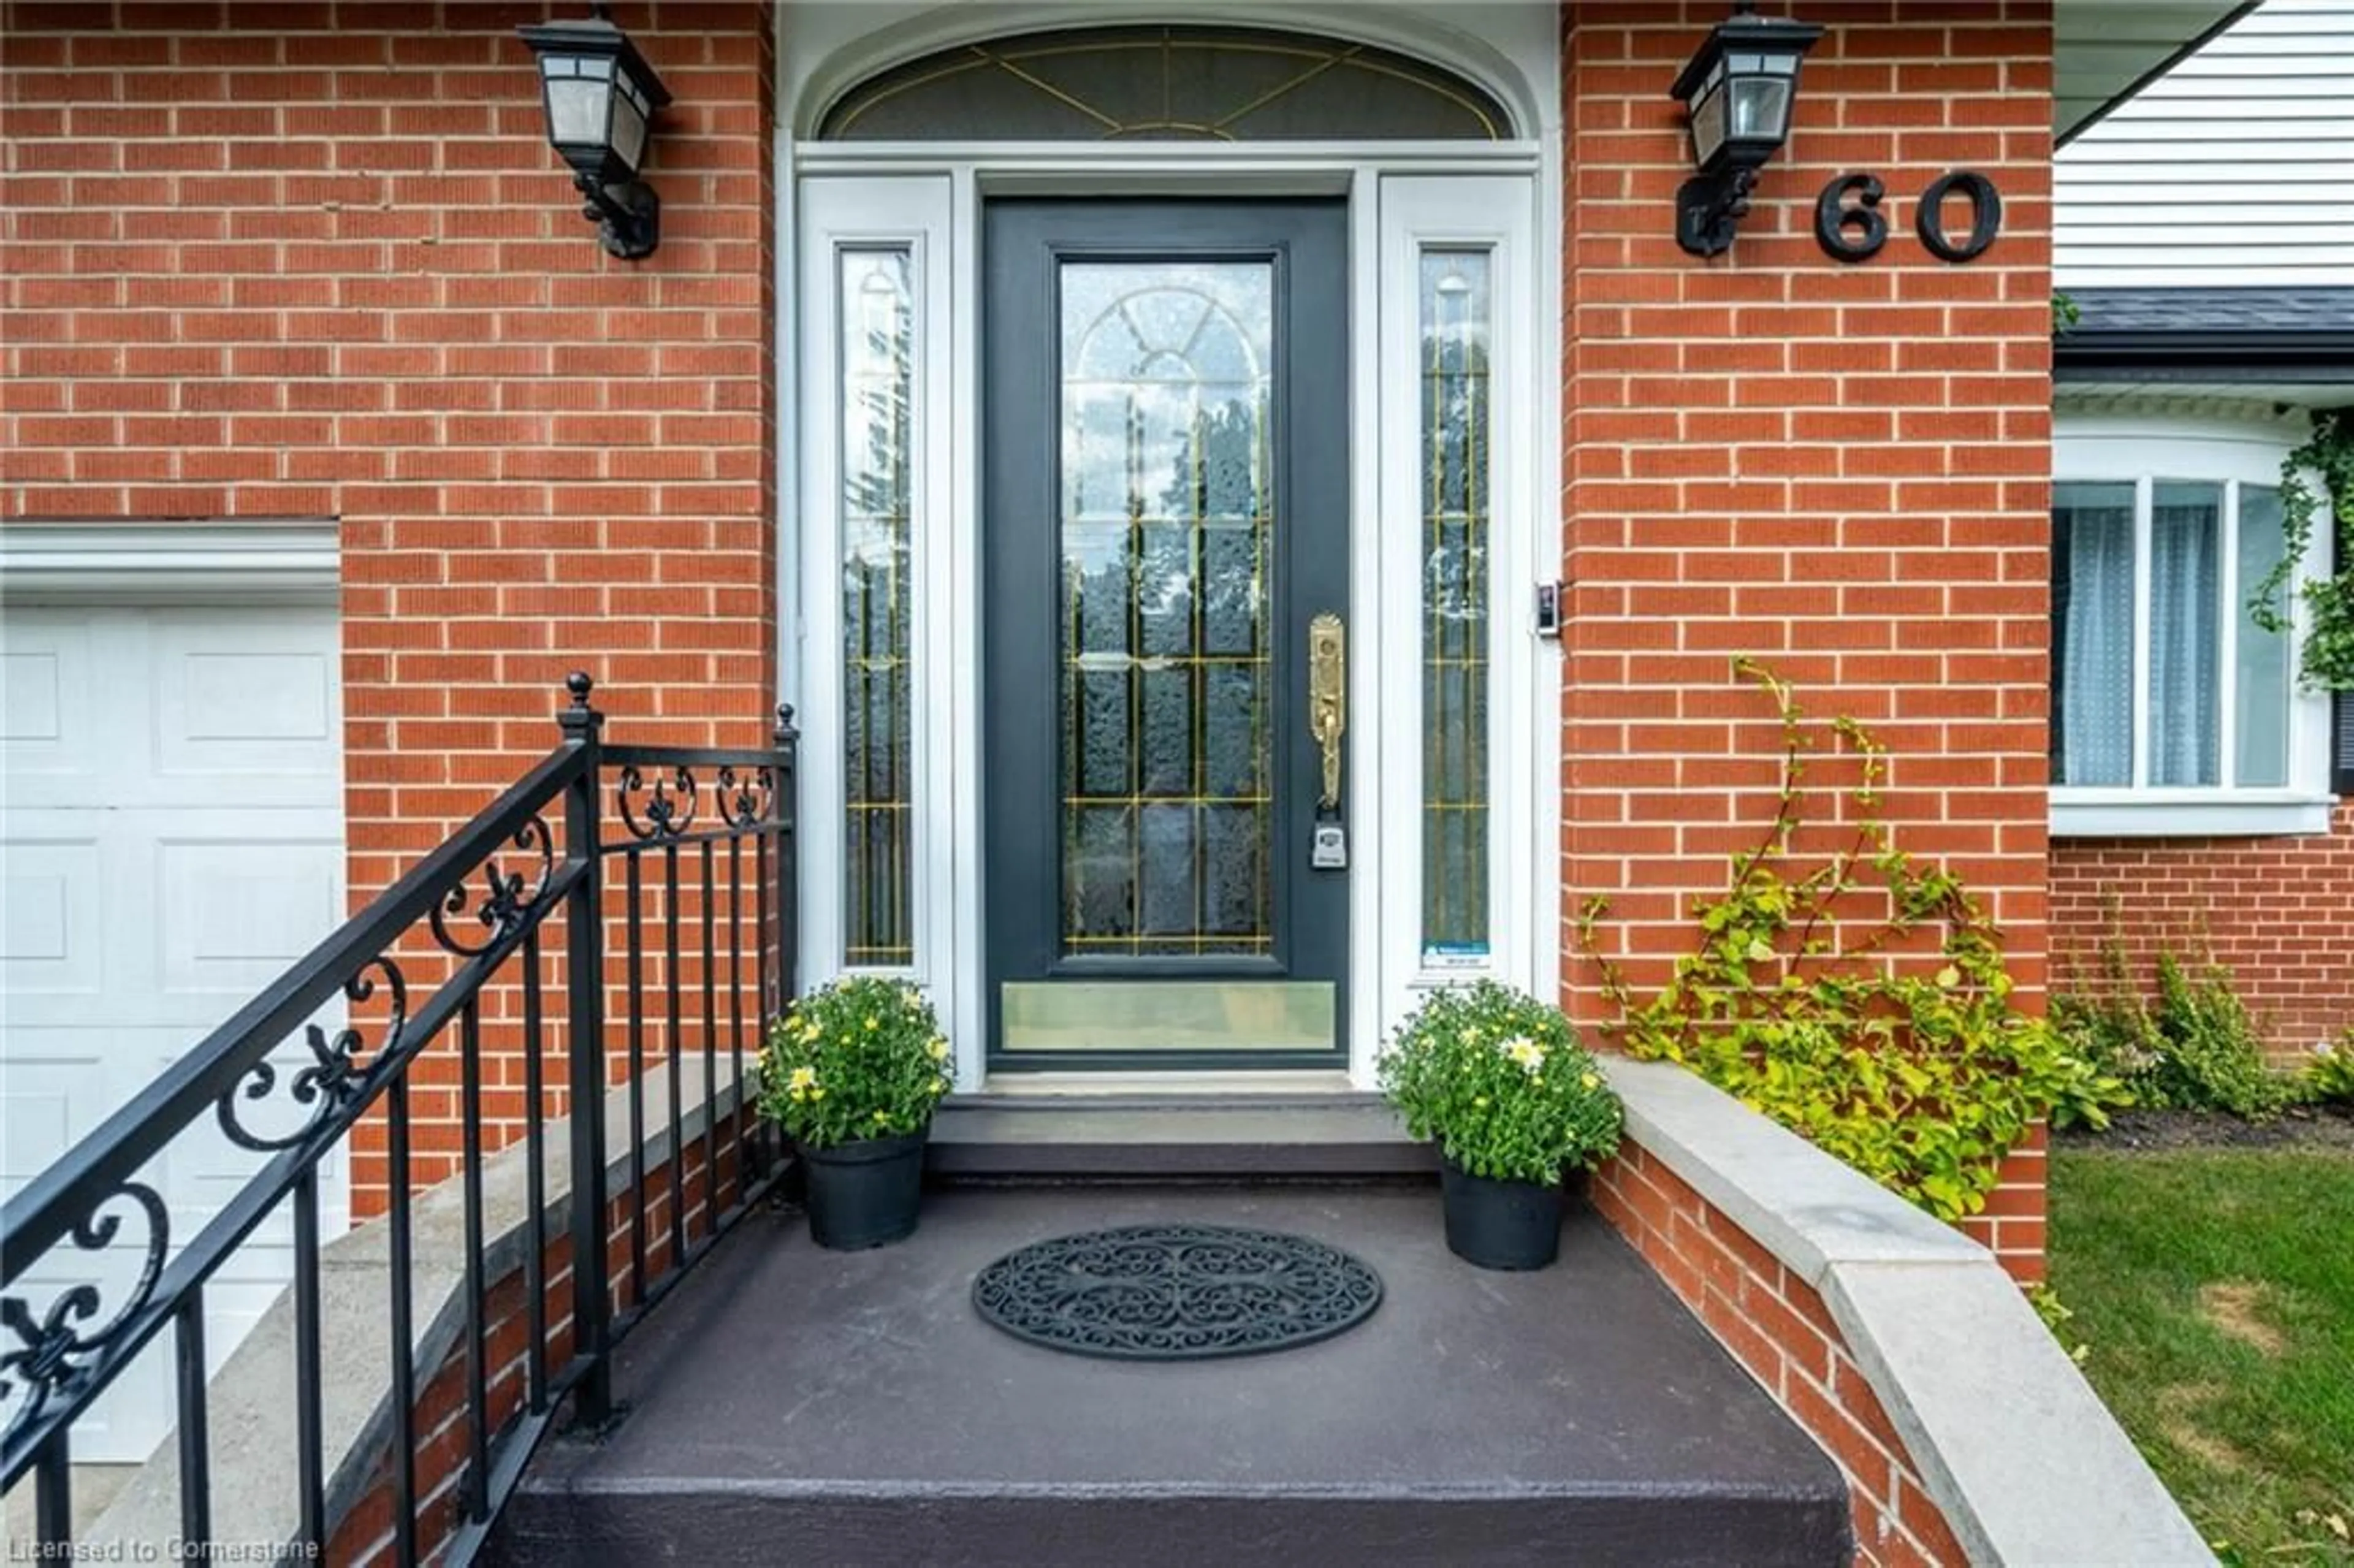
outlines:
{"label": "red brick wall section beneath the white bay window", "polygon": [[2354,805],[2309,838],[2069,838],[2053,845],[2053,984],[2142,984],[2161,951],[2232,970],[2288,1059],[2354,1029]]}

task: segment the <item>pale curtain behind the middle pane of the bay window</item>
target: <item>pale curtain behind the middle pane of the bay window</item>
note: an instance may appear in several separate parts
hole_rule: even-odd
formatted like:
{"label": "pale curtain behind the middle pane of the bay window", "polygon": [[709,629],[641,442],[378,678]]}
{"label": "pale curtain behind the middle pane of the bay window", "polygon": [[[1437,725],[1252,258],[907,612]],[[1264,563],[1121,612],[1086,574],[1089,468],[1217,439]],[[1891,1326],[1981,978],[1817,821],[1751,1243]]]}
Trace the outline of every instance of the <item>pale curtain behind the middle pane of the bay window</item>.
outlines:
{"label": "pale curtain behind the middle pane of the bay window", "polygon": [[2220,784],[2220,492],[2159,485],[2149,511],[2149,782]]}

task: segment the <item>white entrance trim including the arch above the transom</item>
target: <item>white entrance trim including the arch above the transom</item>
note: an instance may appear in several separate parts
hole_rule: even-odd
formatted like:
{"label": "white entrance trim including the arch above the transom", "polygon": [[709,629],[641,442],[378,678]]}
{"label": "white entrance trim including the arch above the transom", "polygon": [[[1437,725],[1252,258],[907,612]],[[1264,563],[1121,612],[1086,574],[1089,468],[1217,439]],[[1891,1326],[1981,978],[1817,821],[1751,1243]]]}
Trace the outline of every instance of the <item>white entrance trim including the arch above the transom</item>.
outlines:
{"label": "white entrance trim including the arch above the transom", "polygon": [[[1429,9],[1431,19],[1415,19]],[[946,292],[946,344],[918,370],[925,386],[946,377],[944,398],[932,407],[946,414],[946,428],[920,436],[927,461],[937,469],[918,483],[932,497],[932,560],[916,577],[935,598],[923,612],[930,671],[920,676],[930,713],[944,716],[918,789],[932,791],[932,805],[918,808],[946,829],[946,845],[918,843],[918,876],[930,876],[918,909],[923,928],[918,968],[930,984],[956,1045],[958,1088],[977,1090],[984,1076],[982,1041],[982,815],[977,779],[984,758],[979,746],[979,214],[984,195],[1012,193],[1083,193],[1083,195],[1342,195],[1351,202],[1351,626],[1358,631],[1351,659],[1351,730],[1346,737],[1351,796],[1358,800],[1358,831],[1351,833],[1351,1041],[1349,1078],[1372,1088],[1382,1034],[1396,1024],[1396,1008],[1410,998],[1415,982],[1396,954],[1401,918],[1419,921],[1419,902],[1405,916],[1384,904],[1396,892],[1377,888],[1384,864],[1382,831],[1372,824],[1401,815],[1396,800],[1382,796],[1384,756],[1379,723],[1384,704],[1377,685],[1379,659],[1365,657],[1382,645],[1375,605],[1382,600],[1382,565],[1375,549],[1384,527],[1382,501],[1382,184],[1394,177],[1478,177],[1516,179],[1525,200],[1504,214],[1504,226],[1518,238],[1521,266],[1514,287],[1514,318],[1497,320],[1499,339],[1514,344],[1511,426],[1516,454],[1511,473],[1499,476],[1499,511],[1490,563],[1492,636],[1497,647],[1497,687],[1492,692],[1490,742],[1497,768],[1497,808],[1492,843],[1499,864],[1511,876],[1492,888],[1492,923],[1511,932],[1516,951],[1499,944],[1495,972],[1523,984],[1540,998],[1558,996],[1561,984],[1561,657],[1558,647],[1540,643],[1530,626],[1535,582],[1549,582],[1561,563],[1561,520],[1554,497],[1561,494],[1561,447],[1547,433],[1561,428],[1561,379],[1551,374],[1551,344],[1561,341],[1563,275],[1563,198],[1561,198],[1561,108],[1558,108],[1558,35],[1547,24],[1530,31],[1504,19],[1511,7],[1412,7],[1351,5],[1297,7],[1283,26],[1306,26],[1368,42],[1387,42],[1474,75],[1514,111],[1530,139],[1507,144],[1464,141],[1389,141],[1389,144],[859,144],[798,139],[822,111],[829,94],[857,78],[946,47],[982,33],[1022,31],[1024,19],[1038,26],[1064,21],[1069,12],[1043,7],[899,7],[876,5],[852,16],[845,7],[786,7],[784,26],[800,49],[779,52],[779,419],[782,471],[798,476],[798,487],[779,497],[779,669],[786,702],[803,711],[803,822],[819,824],[805,836],[803,855],[803,951],[800,975],[822,982],[840,970],[840,857],[812,852],[833,833],[838,838],[840,777],[840,650],[838,610],[831,603],[838,572],[831,530],[836,506],[826,485],[831,457],[819,457],[833,440],[833,391],[812,367],[831,356],[812,341],[831,344],[831,325],[822,323],[822,297],[807,285],[812,254],[826,254],[826,240],[807,231],[810,188],[826,184],[855,188],[859,200],[885,198],[885,188],[906,179],[927,193],[925,210],[939,212],[923,221],[935,233],[930,252],[935,271],[923,280],[925,299]],[[1495,12],[1495,14],[1490,14]],[[1445,14],[1445,21],[1438,16]],[[1177,21],[1168,7],[1146,9],[1109,0],[1109,9],[1090,21],[1139,19]],[[1459,21],[1457,21],[1459,19]],[[1328,26],[1330,24],[1330,26]],[[1464,31],[1464,28],[1476,31]],[[1441,42],[1441,35],[1445,42]],[[944,184],[932,184],[944,181]],[[847,198],[845,198],[847,200]],[[937,207],[935,207],[937,202]],[[1528,228],[1518,224],[1525,219]],[[1410,372],[1412,379],[1412,372]],[[1502,513],[1511,494],[1514,516]],[[944,532],[944,537],[942,537]],[[1410,530],[1415,532],[1415,530]],[[803,539],[822,549],[805,549]],[[918,549],[925,549],[918,542]],[[925,716],[920,732],[935,730]],[[1509,779],[1507,779],[1509,772]],[[826,779],[833,779],[831,789]],[[1419,772],[1415,772],[1419,777]],[[1396,791],[1391,791],[1396,793]],[[1419,796],[1419,791],[1417,791]],[[1507,805],[1507,800],[1511,800]],[[829,817],[831,812],[831,817]],[[1511,812],[1511,815],[1507,815]],[[1419,822],[1419,812],[1403,810]],[[1410,841],[1412,843],[1412,841]],[[1419,852],[1415,852],[1419,862]],[[1516,885],[1507,885],[1516,883]],[[1507,902],[1509,899],[1509,902]],[[1384,935],[1389,930],[1389,935]],[[1405,965],[1419,970],[1419,965]]]}

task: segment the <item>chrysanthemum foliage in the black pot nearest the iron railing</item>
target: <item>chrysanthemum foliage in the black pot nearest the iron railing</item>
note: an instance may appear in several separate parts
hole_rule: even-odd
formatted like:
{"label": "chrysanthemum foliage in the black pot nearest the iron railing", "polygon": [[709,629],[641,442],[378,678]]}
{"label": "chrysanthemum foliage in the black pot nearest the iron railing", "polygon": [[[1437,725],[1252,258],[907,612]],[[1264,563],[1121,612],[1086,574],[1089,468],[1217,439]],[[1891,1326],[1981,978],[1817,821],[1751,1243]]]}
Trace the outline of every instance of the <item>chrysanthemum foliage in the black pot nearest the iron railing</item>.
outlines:
{"label": "chrysanthemum foliage in the black pot nearest the iron railing", "polygon": [[760,1111],[803,1149],[902,1137],[930,1125],[949,1071],[949,1041],[923,991],[847,975],[770,1026]]}

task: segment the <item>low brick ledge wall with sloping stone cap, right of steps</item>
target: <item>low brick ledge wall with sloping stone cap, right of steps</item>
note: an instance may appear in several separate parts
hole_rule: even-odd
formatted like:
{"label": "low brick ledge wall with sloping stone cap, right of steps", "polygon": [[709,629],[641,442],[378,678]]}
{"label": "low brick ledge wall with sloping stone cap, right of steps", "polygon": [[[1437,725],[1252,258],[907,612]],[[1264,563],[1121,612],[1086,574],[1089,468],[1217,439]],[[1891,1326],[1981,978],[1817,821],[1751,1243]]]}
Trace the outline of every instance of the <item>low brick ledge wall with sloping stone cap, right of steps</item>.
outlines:
{"label": "low brick ledge wall with sloping stone cap, right of steps", "polygon": [[1867,1563],[2213,1563],[1996,1260],[1664,1062],[1596,1208],[1848,1476]]}

